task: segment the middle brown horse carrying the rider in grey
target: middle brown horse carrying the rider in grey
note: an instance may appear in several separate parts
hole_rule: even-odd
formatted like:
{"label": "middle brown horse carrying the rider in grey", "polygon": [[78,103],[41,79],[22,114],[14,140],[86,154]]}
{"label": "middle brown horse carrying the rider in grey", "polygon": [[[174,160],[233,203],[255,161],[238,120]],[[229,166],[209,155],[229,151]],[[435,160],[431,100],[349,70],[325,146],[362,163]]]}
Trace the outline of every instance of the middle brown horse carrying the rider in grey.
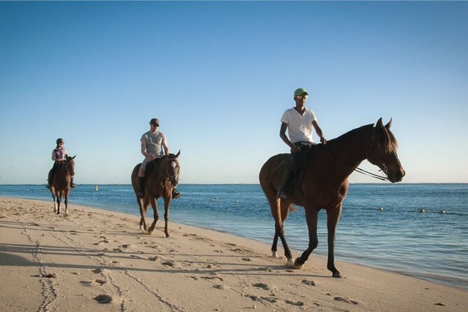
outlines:
{"label": "middle brown horse carrying the rider in grey", "polygon": [[[172,189],[178,185],[179,180],[179,162],[178,157],[180,150],[177,155],[169,154],[161,159],[155,159],[146,166],[146,183],[145,183],[145,198],[141,199],[138,196],[140,190],[140,183],[138,178],[138,171],[141,163],[137,164],[132,171],[132,186],[136,195],[136,201],[140,207],[140,229],[148,234],[153,234],[156,227],[156,222],[159,219],[157,213],[157,199],[162,197],[164,199],[164,233],[166,237],[169,237],[169,231],[167,229],[167,223],[169,221],[169,204],[172,199]],[[145,220],[146,210],[148,205],[151,203],[155,214],[155,220],[148,229]]]}

